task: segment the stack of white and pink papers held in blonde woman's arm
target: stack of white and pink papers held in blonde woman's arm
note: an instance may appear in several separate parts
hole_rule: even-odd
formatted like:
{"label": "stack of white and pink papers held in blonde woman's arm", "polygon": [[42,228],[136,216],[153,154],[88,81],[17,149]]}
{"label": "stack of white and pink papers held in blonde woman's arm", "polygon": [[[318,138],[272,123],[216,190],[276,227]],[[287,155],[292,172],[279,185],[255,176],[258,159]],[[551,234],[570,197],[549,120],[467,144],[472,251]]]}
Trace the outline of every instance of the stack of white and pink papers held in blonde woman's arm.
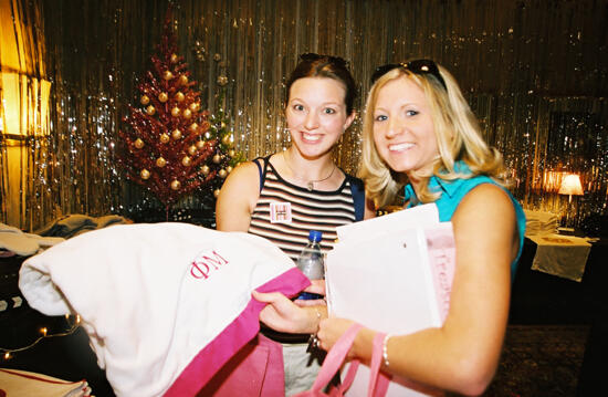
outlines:
{"label": "stack of white and pink papers held in blonde woman's arm", "polygon": [[[451,222],[440,222],[434,203],[337,228],[327,254],[331,315],[390,334],[438,327],[449,311],[455,247]],[[366,394],[360,367],[349,396]],[[419,396],[396,379],[387,396]]]}

